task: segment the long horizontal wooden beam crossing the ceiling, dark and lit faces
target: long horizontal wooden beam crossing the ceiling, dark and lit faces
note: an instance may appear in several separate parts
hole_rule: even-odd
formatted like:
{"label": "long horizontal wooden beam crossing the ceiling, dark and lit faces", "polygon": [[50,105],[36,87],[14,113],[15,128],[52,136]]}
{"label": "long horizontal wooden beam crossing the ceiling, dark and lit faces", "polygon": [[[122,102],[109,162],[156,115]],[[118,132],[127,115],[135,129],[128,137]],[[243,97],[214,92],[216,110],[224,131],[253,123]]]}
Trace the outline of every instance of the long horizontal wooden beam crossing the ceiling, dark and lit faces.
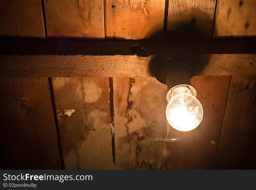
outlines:
{"label": "long horizontal wooden beam crossing the ceiling, dark and lit faces", "polygon": [[160,40],[2,40],[0,76],[152,76],[149,66],[153,55],[180,52],[195,58],[197,75],[255,75],[254,44],[256,38],[186,42],[186,46]]}

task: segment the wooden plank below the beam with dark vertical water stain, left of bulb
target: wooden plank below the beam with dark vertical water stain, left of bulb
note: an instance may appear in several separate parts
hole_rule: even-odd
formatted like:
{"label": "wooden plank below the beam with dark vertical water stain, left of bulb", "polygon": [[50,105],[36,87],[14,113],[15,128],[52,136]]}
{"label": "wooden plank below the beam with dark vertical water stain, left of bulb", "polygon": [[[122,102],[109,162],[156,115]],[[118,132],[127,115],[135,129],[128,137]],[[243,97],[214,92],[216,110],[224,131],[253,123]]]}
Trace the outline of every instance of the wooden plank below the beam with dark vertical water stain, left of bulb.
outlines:
{"label": "wooden plank below the beam with dark vertical water stain, left of bulb", "polygon": [[116,169],[160,169],[166,85],[152,77],[114,77]]}

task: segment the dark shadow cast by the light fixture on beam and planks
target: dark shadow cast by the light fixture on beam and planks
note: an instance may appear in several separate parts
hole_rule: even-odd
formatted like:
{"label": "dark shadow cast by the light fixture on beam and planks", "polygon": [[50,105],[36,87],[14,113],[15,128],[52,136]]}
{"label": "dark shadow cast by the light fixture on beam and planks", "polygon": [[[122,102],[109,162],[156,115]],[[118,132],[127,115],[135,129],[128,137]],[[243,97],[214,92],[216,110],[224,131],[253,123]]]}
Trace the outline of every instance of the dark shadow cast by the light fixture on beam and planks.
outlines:
{"label": "dark shadow cast by the light fixture on beam and planks", "polygon": [[[167,23],[166,29],[168,30],[168,28],[172,28],[171,30],[163,32],[162,35],[152,35],[152,39],[162,42],[164,44],[172,44],[173,46],[175,46],[175,44],[177,44],[177,46],[180,46],[180,44],[184,44],[184,49],[181,48],[179,50],[175,50],[175,52],[173,52],[173,50],[171,50],[170,52],[168,52],[168,50],[165,50],[160,55],[158,53],[157,58],[152,57],[149,64],[149,69],[152,76],[154,76],[152,70],[152,68],[154,68],[154,64],[157,64],[157,61],[161,61],[161,59],[166,56],[170,56],[171,54],[185,54],[191,56],[191,63],[194,70],[194,75],[200,73],[205,68],[205,66],[207,66],[211,55],[202,56],[201,52],[197,52],[193,48],[188,50],[187,47],[193,47],[193,44],[196,47],[200,45],[202,41],[209,40],[211,38],[211,27],[213,26],[213,20],[200,17],[200,15],[204,14],[201,10],[198,10],[196,8],[193,8],[191,11],[188,12],[191,12],[191,15],[188,16],[188,18],[191,18],[190,21],[185,23],[181,22],[178,25],[176,24],[175,26],[171,26],[171,23]],[[196,16],[195,14],[192,14],[195,12]],[[202,23],[200,23],[200,21]]]}

